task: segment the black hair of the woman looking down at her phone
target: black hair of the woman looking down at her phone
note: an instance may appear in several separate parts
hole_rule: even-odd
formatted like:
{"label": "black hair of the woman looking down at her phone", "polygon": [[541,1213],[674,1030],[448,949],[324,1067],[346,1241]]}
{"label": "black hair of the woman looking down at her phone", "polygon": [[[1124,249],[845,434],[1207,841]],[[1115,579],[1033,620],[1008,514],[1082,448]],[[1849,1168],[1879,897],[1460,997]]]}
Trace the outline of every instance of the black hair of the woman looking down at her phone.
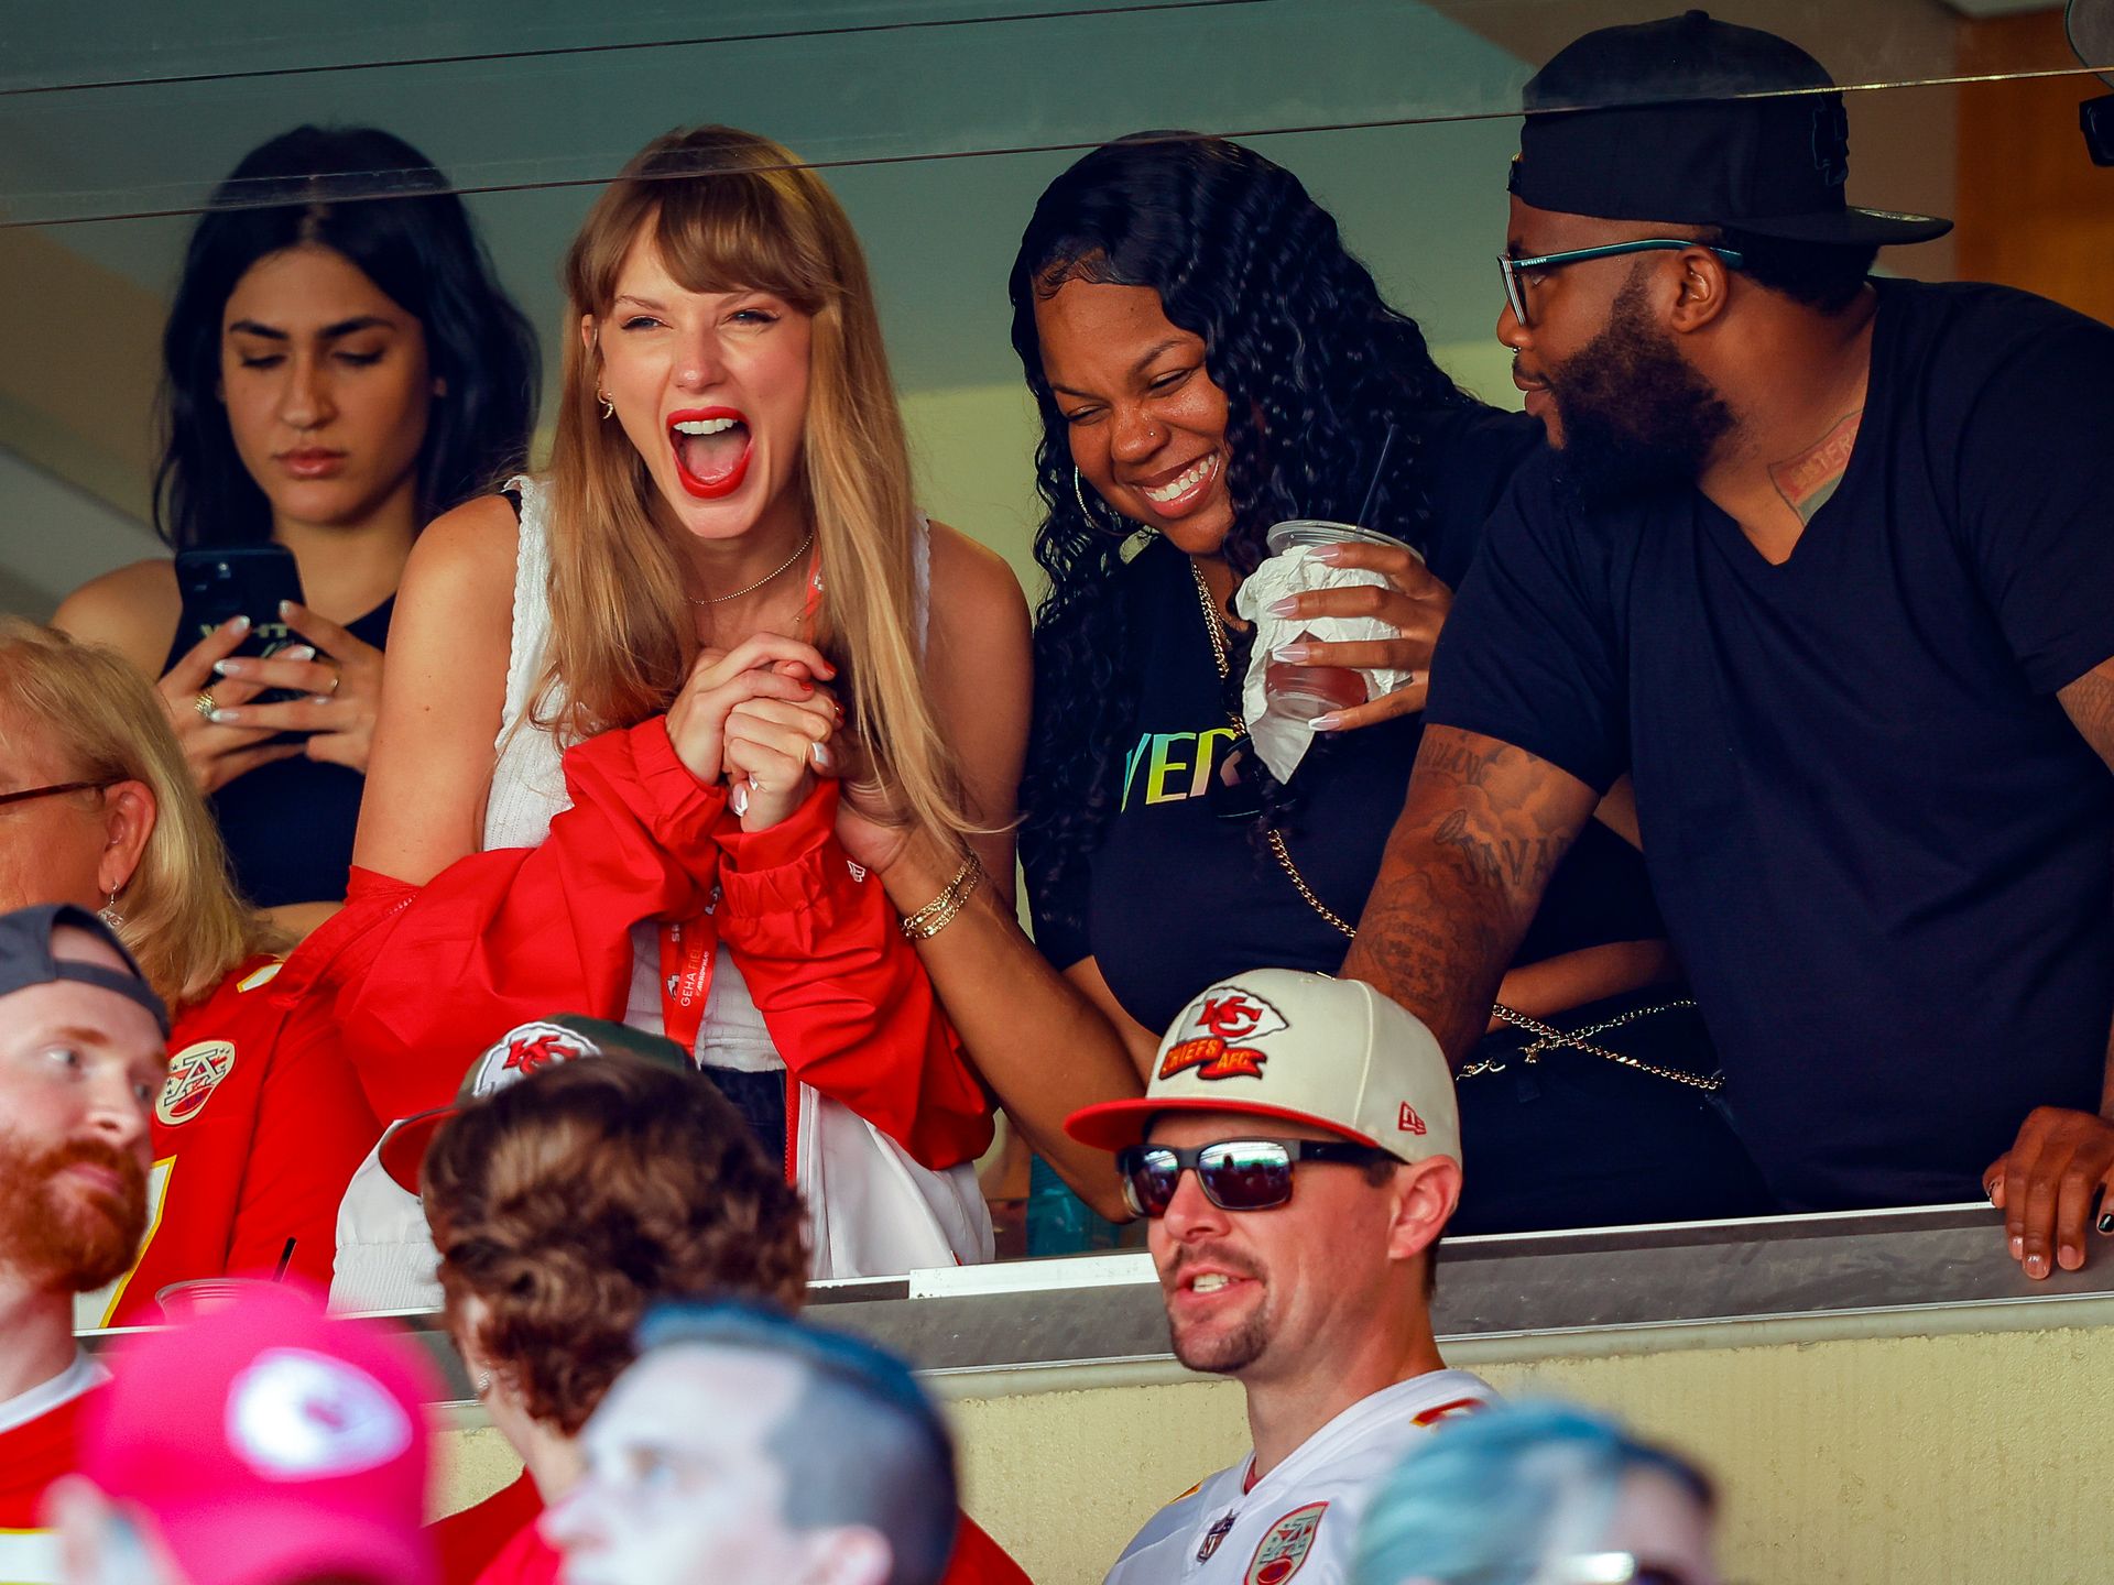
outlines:
{"label": "black hair of the woman looking down at her phone", "polygon": [[[385,194],[385,197],[376,197]],[[433,402],[419,524],[490,490],[528,454],[535,328],[499,285],[469,209],[416,148],[378,127],[296,127],[252,148],[214,192],[163,330],[154,526],[175,549],[260,545],[271,503],[220,402],[220,315],[260,258],[342,254],[425,330]]]}

